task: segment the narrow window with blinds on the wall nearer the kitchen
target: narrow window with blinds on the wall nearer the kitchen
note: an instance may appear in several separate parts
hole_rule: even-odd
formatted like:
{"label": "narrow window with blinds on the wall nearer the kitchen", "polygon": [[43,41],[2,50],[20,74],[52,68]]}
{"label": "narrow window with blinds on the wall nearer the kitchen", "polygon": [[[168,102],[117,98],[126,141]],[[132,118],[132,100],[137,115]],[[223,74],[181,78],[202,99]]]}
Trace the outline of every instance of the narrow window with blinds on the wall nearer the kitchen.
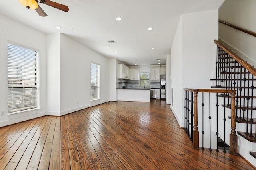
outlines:
{"label": "narrow window with blinds on the wall nearer the kitchen", "polygon": [[91,100],[100,98],[100,65],[91,63]]}

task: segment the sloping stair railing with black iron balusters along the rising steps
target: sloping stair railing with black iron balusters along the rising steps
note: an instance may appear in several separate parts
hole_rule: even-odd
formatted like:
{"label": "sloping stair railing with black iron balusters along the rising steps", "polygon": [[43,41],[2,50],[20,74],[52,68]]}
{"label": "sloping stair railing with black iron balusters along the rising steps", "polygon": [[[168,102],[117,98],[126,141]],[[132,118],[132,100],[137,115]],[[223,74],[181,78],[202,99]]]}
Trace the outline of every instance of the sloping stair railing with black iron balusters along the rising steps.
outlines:
{"label": "sloping stair railing with black iron balusters along the rising steps", "polygon": [[[248,136],[250,140],[256,140],[256,134],[253,133],[253,124],[256,124],[253,118],[254,81],[256,80],[256,69],[236,55],[230,49],[222,45],[218,40],[217,59],[216,59],[216,86],[214,88],[236,89],[236,121],[246,123],[246,132],[243,136]],[[234,76],[234,77],[233,77]],[[229,94],[220,94],[219,97],[228,97],[228,104],[222,105],[230,108]],[[255,126],[256,131],[256,126]],[[240,132],[238,132],[240,134]]]}

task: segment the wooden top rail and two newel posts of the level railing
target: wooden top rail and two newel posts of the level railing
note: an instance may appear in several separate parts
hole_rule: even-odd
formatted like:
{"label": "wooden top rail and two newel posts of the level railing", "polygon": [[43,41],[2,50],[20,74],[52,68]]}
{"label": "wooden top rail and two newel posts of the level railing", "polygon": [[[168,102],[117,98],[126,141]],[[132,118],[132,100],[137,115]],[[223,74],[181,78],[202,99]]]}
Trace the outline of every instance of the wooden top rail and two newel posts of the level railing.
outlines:
{"label": "wooden top rail and two newel posts of the level railing", "polygon": [[199,149],[199,132],[198,132],[198,112],[197,112],[197,94],[198,92],[212,92],[212,93],[230,93],[231,94],[231,132],[230,132],[230,153],[238,154],[238,143],[236,135],[236,105],[235,95],[236,90],[230,89],[192,89],[183,88],[185,91],[194,92],[194,128],[193,128],[193,147]]}

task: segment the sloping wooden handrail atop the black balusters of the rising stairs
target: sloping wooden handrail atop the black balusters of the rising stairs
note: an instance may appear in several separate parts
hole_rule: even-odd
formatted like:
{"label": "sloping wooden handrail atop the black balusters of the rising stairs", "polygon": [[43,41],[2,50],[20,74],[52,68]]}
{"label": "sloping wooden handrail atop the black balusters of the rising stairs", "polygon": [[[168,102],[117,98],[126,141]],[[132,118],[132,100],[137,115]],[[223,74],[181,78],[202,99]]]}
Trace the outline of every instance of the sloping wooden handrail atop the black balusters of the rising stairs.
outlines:
{"label": "sloping wooden handrail atop the black balusters of the rising stairs", "polygon": [[254,76],[256,76],[256,68],[248,64],[246,61],[244,61],[241,57],[236,55],[234,52],[232,52],[230,49],[225,47],[223,44],[221,44],[218,40],[214,40],[215,44],[217,44],[219,47],[221,47],[228,55],[230,55],[233,59],[235,59],[238,63],[240,63],[244,68],[246,68],[250,73],[252,73]]}

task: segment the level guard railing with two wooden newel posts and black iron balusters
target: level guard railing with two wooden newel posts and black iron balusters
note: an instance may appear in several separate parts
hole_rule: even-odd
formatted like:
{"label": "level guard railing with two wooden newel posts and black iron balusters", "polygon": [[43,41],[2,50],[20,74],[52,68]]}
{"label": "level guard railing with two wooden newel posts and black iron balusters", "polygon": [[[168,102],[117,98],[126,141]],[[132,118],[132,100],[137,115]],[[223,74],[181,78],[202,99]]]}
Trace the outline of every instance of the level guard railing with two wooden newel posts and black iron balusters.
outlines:
{"label": "level guard railing with two wooden newel posts and black iron balusters", "polygon": [[[204,106],[205,106],[205,102],[204,102],[204,93],[209,93],[209,129],[210,132],[209,134],[211,134],[212,130],[211,130],[211,119],[213,116],[216,116],[216,139],[217,139],[217,143],[218,143],[218,135],[219,135],[219,131],[218,131],[218,97],[216,97],[216,104],[215,106],[217,107],[216,109],[216,113],[211,113],[211,107],[212,105],[214,105],[214,102],[210,101],[210,94],[216,93],[216,96],[218,96],[219,93],[222,94],[230,94],[231,96],[231,132],[230,132],[230,153],[231,154],[238,154],[238,143],[237,143],[237,135],[236,135],[236,115],[235,115],[235,94],[236,94],[236,90],[227,90],[227,89],[188,89],[188,88],[184,88],[185,91],[185,98],[184,98],[184,102],[185,102],[185,106],[184,106],[184,112],[185,112],[185,127],[184,130],[186,131],[186,133],[188,134],[188,136],[190,137],[190,139],[192,140],[193,143],[193,147],[194,149],[199,149],[199,131],[198,131],[198,93],[202,93],[202,113],[200,113],[202,115],[202,119],[204,119],[204,116],[206,113],[204,113]],[[224,100],[225,101],[225,100]],[[225,109],[224,109],[224,143],[225,141],[225,131],[226,131],[226,115],[225,115]],[[204,149],[204,120],[202,121],[202,149]],[[210,142],[210,147],[209,150],[211,151],[211,136],[210,136],[210,140],[207,140]],[[216,151],[218,150],[218,145]],[[224,152],[226,152],[225,147],[224,147]]]}

